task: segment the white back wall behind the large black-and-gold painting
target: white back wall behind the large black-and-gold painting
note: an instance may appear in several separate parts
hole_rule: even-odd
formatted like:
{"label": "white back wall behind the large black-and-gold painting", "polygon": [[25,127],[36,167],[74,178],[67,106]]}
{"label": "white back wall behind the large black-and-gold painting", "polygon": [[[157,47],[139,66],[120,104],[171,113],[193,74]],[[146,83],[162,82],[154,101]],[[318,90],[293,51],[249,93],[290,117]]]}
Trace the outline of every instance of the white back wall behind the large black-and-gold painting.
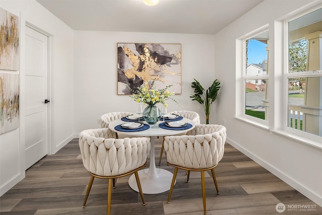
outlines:
{"label": "white back wall behind the large black-and-gold painting", "polygon": [[[117,95],[117,43],[181,43],[182,94],[170,102],[169,111],[191,110],[200,114],[202,106],[191,101],[191,83],[195,78],[204,88],[214,81],[214,36],[131,32],[75,31],[74,99],[75,132],[100,127],[97,119],[109,112],[134,112],[129,96]],[[215,122],[214,111],[210,123]]]}

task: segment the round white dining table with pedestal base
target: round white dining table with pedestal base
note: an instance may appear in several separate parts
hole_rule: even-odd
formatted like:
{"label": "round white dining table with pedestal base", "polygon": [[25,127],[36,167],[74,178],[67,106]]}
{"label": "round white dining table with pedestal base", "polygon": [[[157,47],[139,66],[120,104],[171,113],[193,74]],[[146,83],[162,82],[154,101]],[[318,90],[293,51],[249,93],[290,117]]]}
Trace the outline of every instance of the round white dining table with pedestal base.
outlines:
{"label": "round white dining table with pedestal base", "polygon": [[[157,128],[151,128],[152,125],[150,125],[150,128],[143,131],[134,131],[134,132],[126,132],[126,131],[118,131],[115,129],[115,126],[126,123],[125,121],[122,121],[121,119],[114,120],[110,122],[109,129],[111,129],[114,132],[122,133],[126,135],[131,136],[149,136],[151,138],[151,149],[150,149],[150,164],[149,168],[142,169],[138,171],[140,183],[142,186],[142,192],[144,194],[157,194],[157,193],[163,193],[167,190],[170,190],[171,181],[173,174],[165,169],[160,169],[155,167],[155,159],[154,159],[154,139],[156,136],[171,136],[179,133],[184,133],[189,130],[192,130],[195,127],[195,123],[187,118],[183,118],[183,122],[188,122],[192,124],[192,127],[185,130],[170,130],[170,129],[164,129],[157,126]],[[158,121],[157,125],[159,123],[162,123],[163,121]],[[144,121],[145,124],[147,122]],[[130,187],[139,192],[139,189],[137,187],[135,175],[132,174],[129,178],[129,185]]]}

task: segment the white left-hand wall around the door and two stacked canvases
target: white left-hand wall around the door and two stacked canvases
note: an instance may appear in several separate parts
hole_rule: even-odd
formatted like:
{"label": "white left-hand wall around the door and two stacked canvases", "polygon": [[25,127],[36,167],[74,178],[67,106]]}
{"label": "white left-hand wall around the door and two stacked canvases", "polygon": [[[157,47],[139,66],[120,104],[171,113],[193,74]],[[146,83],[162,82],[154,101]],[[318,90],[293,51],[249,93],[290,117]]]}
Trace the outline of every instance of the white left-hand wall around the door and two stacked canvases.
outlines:
{"label": "white left-hand wall around the door and two stacked canvases", "polygon": [[[20,21],[20,128],[0,135],[0,195],[25,177],[24,150],[24,65],[26,21],[53,35],[54,55],[49,97],[53,108],[51,150],[57,152],[73,136],[73,31],[34,0],[0,1],[0,7]],[[4,72],[0,70],[0,73]]]}

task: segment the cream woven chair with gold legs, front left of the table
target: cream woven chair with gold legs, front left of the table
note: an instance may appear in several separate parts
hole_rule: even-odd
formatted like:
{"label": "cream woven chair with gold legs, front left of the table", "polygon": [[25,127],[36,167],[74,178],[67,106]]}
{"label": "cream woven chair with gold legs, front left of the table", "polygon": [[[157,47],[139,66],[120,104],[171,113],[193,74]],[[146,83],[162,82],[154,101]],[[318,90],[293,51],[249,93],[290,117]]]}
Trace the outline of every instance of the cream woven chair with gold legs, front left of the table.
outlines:
{"label": "cream woven chair with gold legs, front left of the table", "polygon": [[108,215],[111,214],[112,180],[132,173],[135,174],[142,203],[145,205],[137,171],[146,166],[150,153],[149,137],[111,137],[112,132],[108,128],[88,129],[79,134],[78,141],[84,167],[91,175],[83,207],[86,205],[94,178],[108,179]]}

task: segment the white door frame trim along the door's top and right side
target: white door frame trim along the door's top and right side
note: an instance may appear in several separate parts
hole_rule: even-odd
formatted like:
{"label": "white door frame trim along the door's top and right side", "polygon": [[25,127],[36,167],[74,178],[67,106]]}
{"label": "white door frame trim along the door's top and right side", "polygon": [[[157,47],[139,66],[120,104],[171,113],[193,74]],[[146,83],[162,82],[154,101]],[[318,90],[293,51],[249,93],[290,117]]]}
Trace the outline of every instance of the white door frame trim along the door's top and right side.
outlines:
{"label": "white door frame trim along the door's top and right side", "polygon": [[54,71],[54,36],[48,32],[38,28],[37,26],[26,21],[26,28],[31,28],[48,38],[48,68],[47,68],[47,99],[50,101],[47,103],[47,144],[48,155],[53,155],[54,151],[54,85],[53,85],[53,71]]}

